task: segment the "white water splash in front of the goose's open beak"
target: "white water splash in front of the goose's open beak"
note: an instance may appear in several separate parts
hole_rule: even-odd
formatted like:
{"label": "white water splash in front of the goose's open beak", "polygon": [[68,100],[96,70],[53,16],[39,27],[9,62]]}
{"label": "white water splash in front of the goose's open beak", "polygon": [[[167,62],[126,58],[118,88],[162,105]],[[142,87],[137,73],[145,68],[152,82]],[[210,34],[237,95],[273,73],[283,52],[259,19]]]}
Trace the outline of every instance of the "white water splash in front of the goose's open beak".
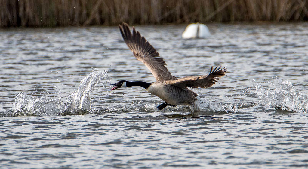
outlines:
{"label": "white water splash in front of the goose's open beak", "polygon": [[46,115],[73,115],[87,114],[91,110],[90,93],[98,84],[110,83],[106,71],[93,71],[83,80],[66,102],[59,97],[49,98],[28,97],[24,92],[16,95],[14,101],[14,112],[12,116],[46,116]]}

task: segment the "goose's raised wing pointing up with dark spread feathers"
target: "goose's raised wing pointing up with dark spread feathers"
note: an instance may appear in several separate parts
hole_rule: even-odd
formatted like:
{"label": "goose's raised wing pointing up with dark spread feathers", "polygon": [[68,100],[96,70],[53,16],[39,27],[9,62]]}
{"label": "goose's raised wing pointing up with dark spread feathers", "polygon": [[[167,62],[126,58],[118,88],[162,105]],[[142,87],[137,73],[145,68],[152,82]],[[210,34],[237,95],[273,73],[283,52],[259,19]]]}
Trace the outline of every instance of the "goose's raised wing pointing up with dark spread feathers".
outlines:
{"label": "goose's raised wing pointing up with dark spread feathers", "polygon": [[165,67],[166,63],[163,58],[159,57],[156,49],[138,31],[136,32],[135,27],[133,27],[132,33],[127,23],[122,23],[119,28],[128,48],[133,52],[137,60],[140,60],[148,67],[156,81],[177,79]]}

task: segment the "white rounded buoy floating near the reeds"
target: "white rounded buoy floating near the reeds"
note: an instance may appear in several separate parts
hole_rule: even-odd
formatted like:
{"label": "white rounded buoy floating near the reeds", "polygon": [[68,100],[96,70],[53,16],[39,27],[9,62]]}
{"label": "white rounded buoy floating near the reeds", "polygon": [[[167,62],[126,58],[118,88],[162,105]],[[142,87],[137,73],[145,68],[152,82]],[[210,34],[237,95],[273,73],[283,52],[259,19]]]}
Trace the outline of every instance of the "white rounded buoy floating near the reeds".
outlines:
{"label": "white rounded buoy floating near the reeds", "polygon": [[189,24],[182,34],[182,38],[206,38],[210,36],[209,28],[201,23]]}

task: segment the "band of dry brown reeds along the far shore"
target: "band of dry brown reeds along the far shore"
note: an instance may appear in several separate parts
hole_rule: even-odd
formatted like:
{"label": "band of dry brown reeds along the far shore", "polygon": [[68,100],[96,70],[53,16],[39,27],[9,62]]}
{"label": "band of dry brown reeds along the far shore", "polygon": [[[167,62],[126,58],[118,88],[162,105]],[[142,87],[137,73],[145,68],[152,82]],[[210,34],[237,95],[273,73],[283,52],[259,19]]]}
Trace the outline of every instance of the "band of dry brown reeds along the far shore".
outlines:
{"label": "band of dry brown reeds along the far shore", "polygon": [[0,0],[0,27],[307,21],[308,0]]}

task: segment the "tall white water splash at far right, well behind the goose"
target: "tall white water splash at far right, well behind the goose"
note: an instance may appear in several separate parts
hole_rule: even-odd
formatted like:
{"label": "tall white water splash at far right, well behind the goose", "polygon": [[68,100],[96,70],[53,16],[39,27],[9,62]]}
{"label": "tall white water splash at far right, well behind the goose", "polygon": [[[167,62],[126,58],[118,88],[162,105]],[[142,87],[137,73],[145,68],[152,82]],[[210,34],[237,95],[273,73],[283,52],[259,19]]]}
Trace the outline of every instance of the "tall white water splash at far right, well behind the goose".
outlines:
{"label": "tall white water splash at far right, well behind the goose", "polygon": [[288,80],[272,79],[256,86],[255,94],[261,98],[260,104],[276,110],[307,113],[308,96]]}

